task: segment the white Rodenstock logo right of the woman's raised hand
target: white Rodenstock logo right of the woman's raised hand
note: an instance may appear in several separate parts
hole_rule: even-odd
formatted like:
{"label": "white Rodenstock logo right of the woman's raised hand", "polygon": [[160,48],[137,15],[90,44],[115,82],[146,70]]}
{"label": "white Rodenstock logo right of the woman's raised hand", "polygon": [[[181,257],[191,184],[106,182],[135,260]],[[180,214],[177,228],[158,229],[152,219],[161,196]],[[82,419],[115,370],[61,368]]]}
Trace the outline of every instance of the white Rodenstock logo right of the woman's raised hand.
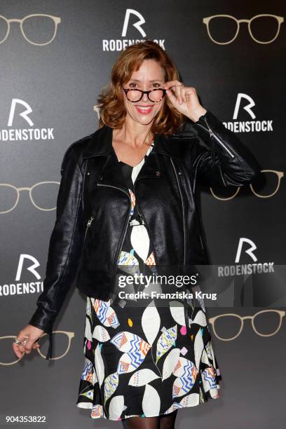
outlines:
{"label": "white Rodenstock logo right of the woman's raised hand", "polygon": [[[254,114],[255,103],[252,97],[247,94],[238,93],[236,106],[233,112],[233,121],[224,122],[224,126],[233,132],[266,132],[273,131],[273,119],[260,121]],[[241,110],[245,110],[250,116],[250,121],[236,121]]]}

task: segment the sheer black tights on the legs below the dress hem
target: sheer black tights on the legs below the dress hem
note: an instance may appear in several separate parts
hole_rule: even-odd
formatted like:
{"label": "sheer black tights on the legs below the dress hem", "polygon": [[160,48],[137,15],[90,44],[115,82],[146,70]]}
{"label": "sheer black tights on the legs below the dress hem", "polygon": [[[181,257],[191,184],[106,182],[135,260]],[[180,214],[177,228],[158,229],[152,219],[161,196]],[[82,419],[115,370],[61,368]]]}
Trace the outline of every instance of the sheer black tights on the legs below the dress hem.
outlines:
{"label": "sheer black tights on the legs below the dress hem", "polygon": [[177,409],[158,417],[129,417],[122,421],[125,429],[175,429]]}

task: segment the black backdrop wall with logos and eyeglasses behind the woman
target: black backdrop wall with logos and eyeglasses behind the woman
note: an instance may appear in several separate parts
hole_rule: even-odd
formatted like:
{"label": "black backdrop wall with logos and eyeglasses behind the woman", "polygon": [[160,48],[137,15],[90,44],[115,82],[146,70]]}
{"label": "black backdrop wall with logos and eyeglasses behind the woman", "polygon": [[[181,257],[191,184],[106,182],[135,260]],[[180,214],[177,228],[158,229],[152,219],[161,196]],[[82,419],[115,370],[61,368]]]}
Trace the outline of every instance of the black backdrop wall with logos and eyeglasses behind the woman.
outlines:
{"label": "black backdrop wall with logos and eyeglasses behind the woman", "polygon": [[[203,106],[232,130],[236,127],[261,169],[271,170],[263,173],[264,186],[257,184],[253,191],[246,186],[235,198],[233,191],[213,190],[226,198],[219,199],[210,189],[198,195],[214,266],[255,263],[274,264],[275,269],[251,276],[251,287],[235,275],[222,294],[229,307],[209,308],[209,317],[270,311],[255,319],[254,326],[264,335],[245,320],[240,335],[224,341],[219,336],[233,336],[236,323],[225,318],[217,326],[220,334],[214,333],[213,344],[224,379],[222,397],[185,409],[177,425],[268,428],[271,422],[284,427],[286,24],[280,23],[275,37],[276,18],[252,22],[254,40],[247,23],[241,22],[236,39],[222,44],[231,39],[235,21],[213,21],[209,35],[203,18],[221,14],[236,20],[259,14],[283,18],[285,9],[282,0],[1,0],[0,41],[6,35],[5,18],[19,20],[34,13],[60,18],[54,38],[55,24],[39,18],[23,22],[24,34],[18,22],[11,22],[0,43],[1,424],[9,415],[43,415],[50,428],[121,425],[103,419],[93,422],[89,410],[75,406],[86,302],[74,287],[54,327],[73,336],[69,348],[58,341],[59,349],[67,351],[63,357],[48,362],[34,352],[15,362],[10,336],[27,324],[41,292],[64,151],[97,129],[97,95],[109,82],[124,43],[148,37],[168,51],[184,84],[196,88]],[[143,22],[136,25],[140,19]],[[247,121],[253,129],[243,130]],[[261,130],[265,124],[266,130]],[[252,252],[247,252],[250,247]],[[273,319],[278,318],[277,311],[281,327]]]}

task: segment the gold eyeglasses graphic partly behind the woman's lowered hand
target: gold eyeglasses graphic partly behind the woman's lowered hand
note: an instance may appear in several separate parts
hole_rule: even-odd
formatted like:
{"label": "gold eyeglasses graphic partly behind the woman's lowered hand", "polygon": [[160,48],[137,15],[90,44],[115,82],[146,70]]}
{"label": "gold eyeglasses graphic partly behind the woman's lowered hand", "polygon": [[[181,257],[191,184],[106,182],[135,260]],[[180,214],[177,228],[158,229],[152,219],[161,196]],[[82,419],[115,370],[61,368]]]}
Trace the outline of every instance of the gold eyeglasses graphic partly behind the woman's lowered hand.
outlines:
{"label": "gold eyeglasses graphic partly behind the woman's lowered hand", "polygon": [[[53,336],[54,336],[53,341],[55,342],[54,349],[59,350],[59,355],[52,357],[52,360],[61,359],[62,357],[67,355],[67,353],[69,352],[69,348],[71,347],[71,339],[74,338],[74,332],[53,331]],[[35,350],[37,350],[39,355],[41,357],[43,357],[43,359],[46,359],[47,352],[46,351],[44,353],[41,352],[41,347],[43,347],[41,345],[41,342],[42,342],[41,339],[45,338],[45,337],[47,337],[47,339],[48,339],[48,334],[46,332],[43,335],[41,335],[39,340],[38,340],[40,347],[35,349]],[[7,353],[9,351],[9,352],[13,353],[13,355],[15,356],[13,348],[11,348],[11,339],[14,339],[14,338],[15,338],[15,336],[13,336],[13,335],[0,336],[1,359],[3,359],[5,350]],[[8,341],[5,341],[5,340],[8,340]],[[46,344],[45,346],[47,347],[48,344]],[[34,350],[34,349],[32,349],[32,350]],[[25,357],[25,355],[23,355],[23,357]],[[17,362],[19,362],[19,360],[22,360],[23,357],[17,358],[16,360],[12,360],[11,362],[2,362],[0,360],[0,365],[15,365]],[[8,359],[9,358],[7,358],[7,360]]]}

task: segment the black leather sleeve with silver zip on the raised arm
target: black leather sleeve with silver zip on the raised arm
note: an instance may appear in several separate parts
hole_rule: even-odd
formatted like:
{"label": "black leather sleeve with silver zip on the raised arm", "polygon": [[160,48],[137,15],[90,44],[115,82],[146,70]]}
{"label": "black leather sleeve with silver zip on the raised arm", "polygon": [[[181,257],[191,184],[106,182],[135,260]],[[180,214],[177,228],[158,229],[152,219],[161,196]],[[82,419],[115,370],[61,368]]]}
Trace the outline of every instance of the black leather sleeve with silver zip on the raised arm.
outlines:
{"label": "black leather sleeve with silver zip on the raised arm", "polygon": [[234,132],[207,110],[193,123],[197,143],[192,166],[195,181],[205,186],[243,186],[252,182],[261,167]]}

